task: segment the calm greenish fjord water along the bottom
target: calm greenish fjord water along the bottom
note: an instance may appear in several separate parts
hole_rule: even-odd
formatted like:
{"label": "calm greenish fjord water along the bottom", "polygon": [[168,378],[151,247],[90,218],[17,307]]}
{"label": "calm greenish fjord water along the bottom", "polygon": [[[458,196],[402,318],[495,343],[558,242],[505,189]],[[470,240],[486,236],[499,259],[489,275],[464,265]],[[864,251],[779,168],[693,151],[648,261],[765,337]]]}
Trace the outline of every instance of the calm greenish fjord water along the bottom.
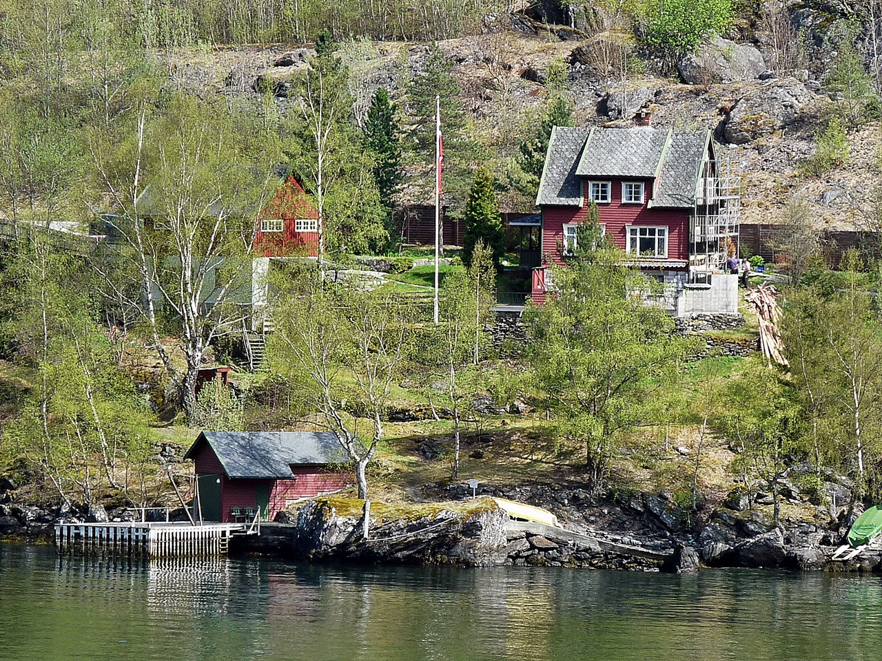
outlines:
{"label": "calm greenish fjord water along the bottom", "polygon": [[882,578],[126,563],[0,544],[0,659],[873,659]]}

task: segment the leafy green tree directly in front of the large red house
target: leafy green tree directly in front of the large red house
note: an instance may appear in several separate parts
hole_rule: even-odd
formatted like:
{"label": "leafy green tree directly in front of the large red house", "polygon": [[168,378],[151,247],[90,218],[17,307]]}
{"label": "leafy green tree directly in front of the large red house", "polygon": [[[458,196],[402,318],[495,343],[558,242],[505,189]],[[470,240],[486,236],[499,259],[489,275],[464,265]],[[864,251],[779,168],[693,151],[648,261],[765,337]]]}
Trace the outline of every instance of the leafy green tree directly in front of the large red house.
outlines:
{"label": "leafy green tree directly in front of the large red house", "polygon": [[640,295],[649,283],[616,249],[553,271],[553,295],[528,308],[528,358],[557,433],[584,443],[588,480],[602,487],[617,443],[655,414],[654,393],[691,350],[673,320]]}

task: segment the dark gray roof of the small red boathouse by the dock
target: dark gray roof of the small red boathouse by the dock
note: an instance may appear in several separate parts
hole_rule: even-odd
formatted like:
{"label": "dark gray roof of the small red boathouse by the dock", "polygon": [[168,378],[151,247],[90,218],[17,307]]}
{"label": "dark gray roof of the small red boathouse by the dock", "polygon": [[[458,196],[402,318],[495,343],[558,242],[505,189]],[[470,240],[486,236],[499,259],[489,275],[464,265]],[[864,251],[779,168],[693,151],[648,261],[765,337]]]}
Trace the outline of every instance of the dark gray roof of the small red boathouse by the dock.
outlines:
{"label": "dark gray roof of the small red boathouse by the dock", "polygon": [[337,437],[330,432],[203,432],[184,458],[191,458],[203,440],[230,478],[285,479],[292,476],[292,464],[346,461]]}

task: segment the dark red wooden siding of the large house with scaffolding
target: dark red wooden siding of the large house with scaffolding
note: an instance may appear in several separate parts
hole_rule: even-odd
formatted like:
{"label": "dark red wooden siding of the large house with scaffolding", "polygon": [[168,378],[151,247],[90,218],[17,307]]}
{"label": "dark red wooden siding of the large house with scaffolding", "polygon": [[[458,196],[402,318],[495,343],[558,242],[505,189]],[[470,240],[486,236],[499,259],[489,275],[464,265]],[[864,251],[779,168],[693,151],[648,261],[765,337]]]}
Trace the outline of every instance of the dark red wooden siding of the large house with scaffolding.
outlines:
{"label": "dark red wooden siding of the large house with scaffolding", "polygon": [[[609,180],[602,180],[609,181]],[[627,179],[624,181],[640,181]],[[652,194],[652,180],[646,183],[645,198]],[[688,209],[650,209],[643,204],[622,203],[622,179],[611,180],[609,204],[597,204],[600,223],[606,228],[609,236],[621,249],[627,249],[627,229],[629,225],[650,225],[668,227],[668,259],[682,262],[689,261],[689,217]],[[587,181],[583,184],[584,197],[587,201]],[[564,224],[580,223],[587,216],[585,206],[544,206],[542,207],[542,263],[563,265],[564,260],[560,249],[564,240]],[[672,269],[684,268],[682,265],[671,265]],[[535,282],[535,279],[534,279]],[[537,303],[545,301],[545,293],[534,287],[533,300]]]}

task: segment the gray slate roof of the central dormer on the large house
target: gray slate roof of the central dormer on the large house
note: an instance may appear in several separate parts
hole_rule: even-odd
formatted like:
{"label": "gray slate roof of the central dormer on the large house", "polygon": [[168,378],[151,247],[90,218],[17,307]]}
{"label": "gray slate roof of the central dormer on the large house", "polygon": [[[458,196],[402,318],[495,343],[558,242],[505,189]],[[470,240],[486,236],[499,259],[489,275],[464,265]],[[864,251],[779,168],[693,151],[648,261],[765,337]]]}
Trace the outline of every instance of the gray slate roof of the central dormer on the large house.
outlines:
{"label": "gray slate roof of the central dormer on the large house", "polygon": [[654,177],[668,131],[594,129],[576,174],[584,177]]}

